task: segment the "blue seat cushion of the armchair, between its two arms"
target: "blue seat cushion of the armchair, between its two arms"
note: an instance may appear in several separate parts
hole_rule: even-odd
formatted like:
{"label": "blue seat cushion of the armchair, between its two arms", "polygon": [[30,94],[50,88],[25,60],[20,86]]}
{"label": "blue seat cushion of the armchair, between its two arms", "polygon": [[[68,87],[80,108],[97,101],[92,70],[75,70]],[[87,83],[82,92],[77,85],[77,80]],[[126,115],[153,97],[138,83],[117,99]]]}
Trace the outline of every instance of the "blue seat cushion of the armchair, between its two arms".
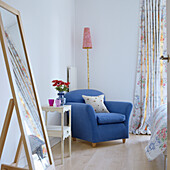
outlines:
{"label": "blue seat cushion of the armchair, between its two arms", "polygon": [[122,123],[126,120],[125,115],[120,113],[96,113],[97,123],[99,125]]}

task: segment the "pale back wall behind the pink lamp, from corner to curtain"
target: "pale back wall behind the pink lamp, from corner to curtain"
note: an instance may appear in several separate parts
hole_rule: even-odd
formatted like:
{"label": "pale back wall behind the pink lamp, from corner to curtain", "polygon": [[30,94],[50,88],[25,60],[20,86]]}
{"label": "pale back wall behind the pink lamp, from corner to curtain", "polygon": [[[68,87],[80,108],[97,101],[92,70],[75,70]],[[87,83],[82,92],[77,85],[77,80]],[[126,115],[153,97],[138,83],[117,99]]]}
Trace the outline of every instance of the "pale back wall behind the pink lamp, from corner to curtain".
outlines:
{"label": "pale back wall behind the pink lamp, from corner to curtain", "polygon": [[76,0],[78,87],[87,88],[83,28],[90,27],[90,88],[108,100],[132,101],[138,52],[140,0]]}

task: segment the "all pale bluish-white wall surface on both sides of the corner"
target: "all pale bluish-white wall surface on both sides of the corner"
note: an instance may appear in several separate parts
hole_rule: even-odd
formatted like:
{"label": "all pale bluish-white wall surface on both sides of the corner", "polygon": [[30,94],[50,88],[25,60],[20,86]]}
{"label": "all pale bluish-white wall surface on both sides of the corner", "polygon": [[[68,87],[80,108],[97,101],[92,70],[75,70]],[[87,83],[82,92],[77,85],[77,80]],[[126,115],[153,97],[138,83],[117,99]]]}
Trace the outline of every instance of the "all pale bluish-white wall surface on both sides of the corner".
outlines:
{"label": "all pale bluish-white wall surface on both sides of the corner", "polygon": [[[91,28],[93,43],[93,49],[90,50],[91,88],[103,91],[109,100],[132,101],[138,51],[139,0],[6,2],[21,12],[27,48],[42,105],[47,103],[48,98],[56,97],[51,80],[66,80],[68,65],[74,66],[76,63],[78,87],[87,88],[86,50],[82,49],[85,26]],[[0,82],[1,130],[11,96],[2,52]],[[50,122],[56,124],[59,117],[53,116]],[[19,139],[18,131],[14,116],[3,163],[12,161]]]}

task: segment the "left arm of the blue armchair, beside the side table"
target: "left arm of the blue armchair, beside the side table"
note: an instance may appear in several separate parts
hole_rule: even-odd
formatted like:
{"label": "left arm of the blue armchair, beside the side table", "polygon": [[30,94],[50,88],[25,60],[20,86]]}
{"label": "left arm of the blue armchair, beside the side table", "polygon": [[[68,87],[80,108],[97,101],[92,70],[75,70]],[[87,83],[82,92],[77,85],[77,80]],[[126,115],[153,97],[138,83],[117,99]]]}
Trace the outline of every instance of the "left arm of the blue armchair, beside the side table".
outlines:
{"label": "left arm of the blue armchair, beside the side table", "polygon": [[94,142],[97,133],[97,121],[94,109],[85,103],[68,102],[72,106],[72,136]]}

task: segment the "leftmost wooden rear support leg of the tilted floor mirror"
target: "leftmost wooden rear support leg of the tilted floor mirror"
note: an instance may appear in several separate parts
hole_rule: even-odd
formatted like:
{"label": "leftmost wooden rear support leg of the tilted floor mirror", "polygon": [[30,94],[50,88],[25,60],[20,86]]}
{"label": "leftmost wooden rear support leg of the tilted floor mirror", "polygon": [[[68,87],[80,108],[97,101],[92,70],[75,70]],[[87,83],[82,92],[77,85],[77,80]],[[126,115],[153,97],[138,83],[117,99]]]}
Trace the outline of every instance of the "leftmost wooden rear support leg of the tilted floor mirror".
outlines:
{"label": "leftmost wooden rear support leg of the tilted floor mirror", "polygon": [[3,151],[3,148],[4,148],[4,144],[5,144],[9,124],[10,124],[10,121],[11,121],[13,109],[14,109],[14,99],[10,99],[7,114],[6,114],[5,121],[4,121],[4,125],[3,125],[3,128],[2,128],[1,137],[0,137],[0,159],[1,159],[1,156],[2,156],[2,151]]}

